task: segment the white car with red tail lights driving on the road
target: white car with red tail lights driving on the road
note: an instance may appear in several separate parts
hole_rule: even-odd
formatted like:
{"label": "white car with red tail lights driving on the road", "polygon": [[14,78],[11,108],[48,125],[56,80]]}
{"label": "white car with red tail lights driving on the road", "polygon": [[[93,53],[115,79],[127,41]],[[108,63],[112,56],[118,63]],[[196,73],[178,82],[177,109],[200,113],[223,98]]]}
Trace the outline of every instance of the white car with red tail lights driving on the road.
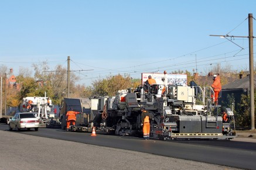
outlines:
{"label": "white car with red tail lights driving on the road", "polygon": [[21,129],[34,128],[35,131],[39,129],[39,119],[35,117],[33,113],[23,112],[16,113],[9,122],[9,130],[16,129],[20,131]]}

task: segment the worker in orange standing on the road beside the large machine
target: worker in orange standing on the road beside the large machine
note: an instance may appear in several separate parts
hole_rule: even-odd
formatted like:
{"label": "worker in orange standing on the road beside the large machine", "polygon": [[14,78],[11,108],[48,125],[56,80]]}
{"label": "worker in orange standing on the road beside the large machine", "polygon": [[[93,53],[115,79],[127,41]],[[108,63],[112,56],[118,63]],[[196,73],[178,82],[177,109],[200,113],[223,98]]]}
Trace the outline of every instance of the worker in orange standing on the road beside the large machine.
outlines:
{"label": "worker in orange standing on the road beside the large machine", "polygon": [[144,108],[141,108],[141,121],[143,121],[143,137],[145,140],[149,139],[150,134],[150,122],[149,119],[152,119],[153,115],[146,111]]}

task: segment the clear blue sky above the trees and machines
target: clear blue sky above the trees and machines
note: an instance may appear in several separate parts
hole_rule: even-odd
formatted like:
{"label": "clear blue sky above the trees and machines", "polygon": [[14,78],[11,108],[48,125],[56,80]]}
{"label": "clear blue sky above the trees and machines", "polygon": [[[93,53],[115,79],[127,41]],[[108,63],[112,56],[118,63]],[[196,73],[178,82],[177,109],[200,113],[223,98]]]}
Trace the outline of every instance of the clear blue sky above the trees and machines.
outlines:
{"label": "clear blue sky above the trees and machines", "polygon": [[85,85],[118,73],[197,67],[205,75],[216,64],[249,70],[247,38],[235,38],[237,46],[209,36],[248,36],[248,13],[256,18],[255,0],[2,0],[0,64],[18,75],[42,61],[67,67],[70,56],[70,70],[91,70],[76,73]]}

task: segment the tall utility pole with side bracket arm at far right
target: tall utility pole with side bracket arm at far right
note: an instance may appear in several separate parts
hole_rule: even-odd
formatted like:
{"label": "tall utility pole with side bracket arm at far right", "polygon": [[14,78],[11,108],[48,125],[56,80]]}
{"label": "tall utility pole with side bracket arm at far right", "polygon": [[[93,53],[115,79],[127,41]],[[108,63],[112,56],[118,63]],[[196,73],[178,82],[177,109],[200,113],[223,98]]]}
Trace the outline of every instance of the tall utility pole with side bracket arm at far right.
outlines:
{"label": "tall utility pole with side bracket arm at far right", "polygon": [[[210,35],[210,36],[225,37],[225,38],[226,37],[243,37],[243,38],[248,38],[249,39],[250,113],[251,113],[251,130],[254,130],[255,129],[255,116],[254,116],[254,110],[255,110],[255,106],[254,106],[254,61],[253,61],[253,39],[254,39],[254,36],[253,36],[252,18],[253,18],[252,17],[252,13],[249,13],[248,14],[249,36],[228,36],[228,35],[224,35],[224,36],[223,35]],[[234,43],[233,41],[231,41],[231,42]]]}

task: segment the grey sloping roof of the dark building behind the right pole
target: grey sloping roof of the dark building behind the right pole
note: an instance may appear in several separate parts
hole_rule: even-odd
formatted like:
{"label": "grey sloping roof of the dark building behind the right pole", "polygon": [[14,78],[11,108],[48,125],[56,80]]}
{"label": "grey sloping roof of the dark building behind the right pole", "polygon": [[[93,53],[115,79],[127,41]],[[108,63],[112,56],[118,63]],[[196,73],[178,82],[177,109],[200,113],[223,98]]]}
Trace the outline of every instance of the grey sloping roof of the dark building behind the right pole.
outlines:
{"label": "grey sloping roof of the dark building behind the right pole", "polygon": [[[254,88],[256,88],[256,75],[254,75]],[[223,85],[222,89],[248,89],[250,88],[250,76],[237,79],[229,84]]]}

